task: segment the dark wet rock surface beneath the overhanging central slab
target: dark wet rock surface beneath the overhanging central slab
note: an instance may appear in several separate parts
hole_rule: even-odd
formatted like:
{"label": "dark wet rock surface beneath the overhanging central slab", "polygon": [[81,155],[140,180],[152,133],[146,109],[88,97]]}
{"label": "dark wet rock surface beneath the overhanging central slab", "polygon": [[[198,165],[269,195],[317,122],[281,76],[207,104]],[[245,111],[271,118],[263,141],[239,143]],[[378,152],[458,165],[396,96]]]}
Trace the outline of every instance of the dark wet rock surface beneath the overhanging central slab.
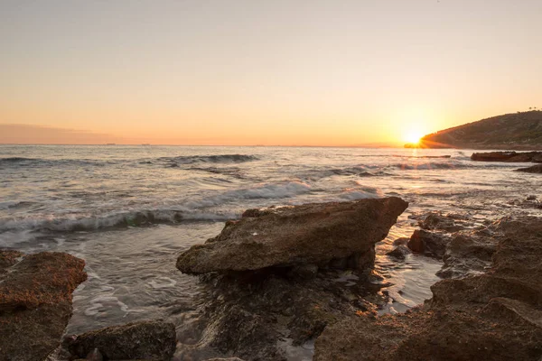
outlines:
{"label": "dark wet rock surface beneath the overhanging central slab", "polygon": [[[203,276],[202,334],[194,354],[210,348],[246,361],[287,360],[286,347],[301,347],[360,310],[375,311],[366,296],[380,286],[362,277],[336,269],[321,269],[312,278],[276,270]],[[191,359],[192,353],[180,355]]]}

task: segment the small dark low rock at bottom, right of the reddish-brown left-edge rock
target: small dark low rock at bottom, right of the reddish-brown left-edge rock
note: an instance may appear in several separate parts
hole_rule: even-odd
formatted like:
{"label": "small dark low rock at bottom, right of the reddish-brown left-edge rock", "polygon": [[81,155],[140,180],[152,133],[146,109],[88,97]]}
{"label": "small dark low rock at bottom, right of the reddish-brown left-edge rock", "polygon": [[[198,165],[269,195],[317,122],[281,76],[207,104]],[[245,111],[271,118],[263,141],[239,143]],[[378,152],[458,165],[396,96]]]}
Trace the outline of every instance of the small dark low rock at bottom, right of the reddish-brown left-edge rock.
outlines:
{"label": "small dark low rock at bottom, right of the reddish-brown left-edge rock", "polygon": [[86,357],[98,349],[108,360],[171,360],[175,326],[162,320],[128,323],[64,338],[62,347],[74,357]]}

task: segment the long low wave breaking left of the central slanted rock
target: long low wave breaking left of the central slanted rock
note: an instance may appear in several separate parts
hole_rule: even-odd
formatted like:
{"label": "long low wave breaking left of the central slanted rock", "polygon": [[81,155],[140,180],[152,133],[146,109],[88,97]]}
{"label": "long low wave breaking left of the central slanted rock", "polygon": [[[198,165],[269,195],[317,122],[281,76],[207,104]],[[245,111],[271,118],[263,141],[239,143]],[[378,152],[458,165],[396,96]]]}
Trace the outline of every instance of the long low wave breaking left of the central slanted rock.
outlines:
{"label": "long low wave breaking left of the central slanted rock", "polygon": [[0,219],[0,239],[5,232],[10,231],[52,231],[78,232],[95,231],[107,228],[145,227],[154,224],[175,224],[185,220],[191,221],[226,221],[238,218],[235,213],[211,213],[177,209],[146,209],[135,211],[120,211],[106,216],[86,218],[22,218]]}

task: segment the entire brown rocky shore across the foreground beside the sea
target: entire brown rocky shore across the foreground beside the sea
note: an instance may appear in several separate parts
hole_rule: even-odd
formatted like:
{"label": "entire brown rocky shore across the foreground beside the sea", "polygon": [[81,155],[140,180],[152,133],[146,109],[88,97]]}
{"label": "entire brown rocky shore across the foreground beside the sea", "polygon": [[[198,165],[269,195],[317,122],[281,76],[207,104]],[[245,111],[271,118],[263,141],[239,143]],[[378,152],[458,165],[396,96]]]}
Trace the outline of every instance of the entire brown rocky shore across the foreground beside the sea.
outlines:
{"label": "entire brown rocky shore across the foreground beside the sea", "polygon": [[[412,216],[418,229],[388,255],[435,257],[443,281],[425,304],[378,316],[386,300],[372,272],[375,244],[407,206],[390,197],[248,209],[178,257],[201,282],[195,322],[147,320],[62,342],[84,261],[0,251],[0,359],[283,361],[303,345],[317,361],[539,361],[542,218]],[[186,332],[197,334],[190,345],[177,341]]]}

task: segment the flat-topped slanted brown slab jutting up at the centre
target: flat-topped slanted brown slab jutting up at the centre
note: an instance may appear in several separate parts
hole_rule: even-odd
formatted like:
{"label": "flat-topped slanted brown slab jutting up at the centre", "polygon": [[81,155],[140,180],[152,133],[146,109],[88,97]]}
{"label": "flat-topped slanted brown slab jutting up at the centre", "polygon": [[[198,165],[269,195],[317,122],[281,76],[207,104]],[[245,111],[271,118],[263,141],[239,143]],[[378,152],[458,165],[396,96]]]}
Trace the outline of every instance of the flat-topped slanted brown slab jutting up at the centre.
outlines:
{"label": "flat-topped slanted brown slab jutting up at the centre", "polygon": [[[349,258],[371,264],[374,245],[406,209],[403,199],[361,199],[247,211],[219,236],[193,245],[177,260],[182,273],[250,271]],[[356,264],[357,263],[357,264]]]}

